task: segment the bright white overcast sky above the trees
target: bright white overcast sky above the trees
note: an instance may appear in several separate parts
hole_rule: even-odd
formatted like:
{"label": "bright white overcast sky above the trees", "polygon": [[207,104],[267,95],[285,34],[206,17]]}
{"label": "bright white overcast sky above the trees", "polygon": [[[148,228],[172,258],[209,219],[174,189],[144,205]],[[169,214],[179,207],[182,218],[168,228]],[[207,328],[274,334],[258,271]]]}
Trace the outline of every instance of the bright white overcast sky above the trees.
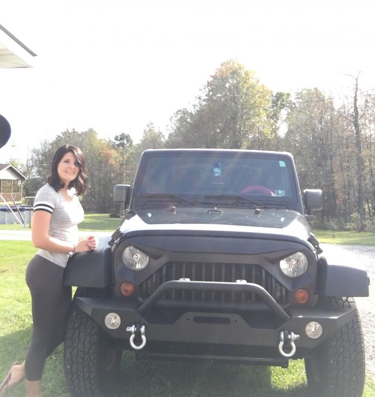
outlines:
{"label": "bright white overcast sky above the trees", "polygon": [[341,95],[359,71],[374,89],[374,16],[374,0],[2,0],[0,24],[38,57],[0,69],[0,163],[67,128],[165,130],[229,59],[273,91]]}

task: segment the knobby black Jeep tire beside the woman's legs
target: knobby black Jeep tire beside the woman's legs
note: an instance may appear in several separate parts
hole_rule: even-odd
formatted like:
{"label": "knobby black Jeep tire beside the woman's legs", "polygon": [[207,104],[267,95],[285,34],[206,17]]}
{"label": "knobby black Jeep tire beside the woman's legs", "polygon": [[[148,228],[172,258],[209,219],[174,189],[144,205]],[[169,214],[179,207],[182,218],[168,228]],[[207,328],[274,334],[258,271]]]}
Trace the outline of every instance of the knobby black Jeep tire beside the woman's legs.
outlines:
{"label": "knobby black Jeep tire beside the woman's legs", "polygon": [[70,394],[102,397],[116,384],[122,349],[75,302],[76,297],[106,297],[99,288],[78,288],[69,313],[64,343],[65,380]]}

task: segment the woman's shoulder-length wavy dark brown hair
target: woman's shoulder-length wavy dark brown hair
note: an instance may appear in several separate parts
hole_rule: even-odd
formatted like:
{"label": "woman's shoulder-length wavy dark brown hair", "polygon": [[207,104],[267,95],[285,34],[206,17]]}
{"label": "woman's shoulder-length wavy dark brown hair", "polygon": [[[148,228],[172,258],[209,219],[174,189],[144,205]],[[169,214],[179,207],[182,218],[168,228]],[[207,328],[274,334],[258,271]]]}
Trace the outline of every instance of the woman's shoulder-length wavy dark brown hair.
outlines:
{"label": "woman's shoulder-length wavy dark brown hair", "polygon": [[68,188],[75,188],[77,191],[77,195],[81,196],[86,192],[87,188],[87,170],[85,156],[83,155],[81,149],[77,146],[62,145],[56,150],[56,153],[52,160],[51,176],[48,177],[48,183],[56,190],[56,192],[64,187],[64,183],[59,177],[57,168],[61,159],[67,152],[73,153],[74,157],[76,157],[76,161],[80,169],[77,178],[69,182]]}

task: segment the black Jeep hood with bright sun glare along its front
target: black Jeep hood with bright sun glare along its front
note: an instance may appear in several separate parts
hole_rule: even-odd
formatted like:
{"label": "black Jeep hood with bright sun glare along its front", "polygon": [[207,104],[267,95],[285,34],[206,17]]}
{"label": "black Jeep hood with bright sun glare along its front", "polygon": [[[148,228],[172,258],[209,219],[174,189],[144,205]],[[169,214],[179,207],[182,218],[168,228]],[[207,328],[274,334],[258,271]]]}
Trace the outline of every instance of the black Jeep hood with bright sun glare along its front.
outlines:
{"label": "black Jeep hood with bright sun glare along its front", "polygon": [[272,234],[307,240],[310,226],[305,217],[296,211],[265,208],[208,208],[163,207],[131,211],[122,223],[120,231],[209,231]]}

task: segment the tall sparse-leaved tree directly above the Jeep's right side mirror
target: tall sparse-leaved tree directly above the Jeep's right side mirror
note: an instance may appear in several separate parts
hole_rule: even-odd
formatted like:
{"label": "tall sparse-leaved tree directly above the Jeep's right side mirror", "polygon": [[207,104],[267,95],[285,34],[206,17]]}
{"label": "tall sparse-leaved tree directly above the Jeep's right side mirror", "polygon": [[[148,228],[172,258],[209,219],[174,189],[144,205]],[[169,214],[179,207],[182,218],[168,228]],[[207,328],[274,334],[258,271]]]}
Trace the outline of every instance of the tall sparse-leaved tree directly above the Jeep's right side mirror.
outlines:
{"label": "tall sparse-leaved tree directly above the Jeep's right side mirror", "polygon": [[324,208],[320,217],[336,219],[337,114],[333,99],[318,89],[304,89],[295,95],[287,116],[284,150],[293,153],[304,188],[322,189]]}

